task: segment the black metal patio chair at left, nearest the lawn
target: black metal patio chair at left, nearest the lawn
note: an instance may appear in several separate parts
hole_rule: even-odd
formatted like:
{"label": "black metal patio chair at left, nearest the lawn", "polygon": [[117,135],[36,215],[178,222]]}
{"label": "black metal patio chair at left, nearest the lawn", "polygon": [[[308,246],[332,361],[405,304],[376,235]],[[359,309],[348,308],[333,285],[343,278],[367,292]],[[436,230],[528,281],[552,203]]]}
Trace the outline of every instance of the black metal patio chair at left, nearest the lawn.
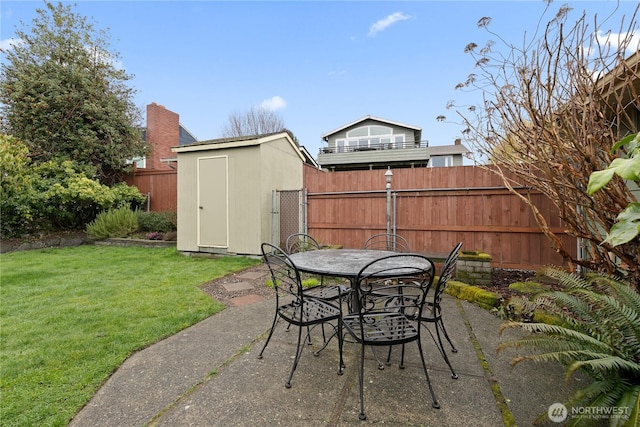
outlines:
{"label": "black metal patio chair at left, nearest the lawn", "polygon": [[[309,338],[314,326],[324,325],[325,323],[331,324],[331,322],[333,322],[332,326],[335,333],[332,334],[329,339],[325,339],[320,350],[327,346],[333,336],[338,337],[338,347],[340,350],[338,374],[342,374],[344,363],[342,360],[341,306],[306,296],[302,289],[300,272],[291,262],[287,254],[279,247],[270,243],[263,243],[262,256],[269,267],[271,280],[273,281],[273,287],[276,292],[276,310],[269,336],[258,355],[258,359],[262,359],[262,355],[269,345],[269,341],[273,336],[273,331],[279,319],[284,320],[289,325],[297,326],[298,343],[296,346],[296,354],[293,359],[291,373],[285,383],[285,387],[290,388],[293,373],[298,366],[298,361],[300,360],[300,355],[304,347],[302,339],[303,329],[306,330],[307,338]],[[286,301],[282,301],[281,299],[283,298],[285,298]],[[320,350],[315,354],[317,355]]]}

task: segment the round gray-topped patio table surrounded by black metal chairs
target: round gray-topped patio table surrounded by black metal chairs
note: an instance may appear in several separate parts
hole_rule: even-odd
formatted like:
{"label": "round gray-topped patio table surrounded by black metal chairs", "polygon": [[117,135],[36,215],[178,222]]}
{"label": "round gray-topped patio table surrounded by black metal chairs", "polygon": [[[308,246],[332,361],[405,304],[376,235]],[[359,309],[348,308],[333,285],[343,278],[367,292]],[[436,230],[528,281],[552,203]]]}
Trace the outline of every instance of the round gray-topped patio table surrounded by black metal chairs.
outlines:
{"label": "round gray-topped patio table surrounded by black metal chairs", "polygon": [[[392,251],[371,249],[318,249],[291,254],[289,259],[301,272],[344,278],[349,280],[351,289],[355,289],[358,273],[367,264],[390,255],[400,254]],[[402,261],[389,258],[383,261],[384,264],[378,264],[376,269],[381,269],[381,267],[395,268],[390,274],[397,274],[397,267],[431,268],[430,264],[421,261],[419,258],[412,259],[411,265],[407,265],[407,261],[406,258],[402,258]],[[398,262],[402,262],[402,264],[398,264]],[[376,275],[376,277],[384,277],[384,275]],[[352,304],[357,304],[357,298],[352,298],[351,300]],[[357,311],[358,307],[352,305],[351,310]]]}

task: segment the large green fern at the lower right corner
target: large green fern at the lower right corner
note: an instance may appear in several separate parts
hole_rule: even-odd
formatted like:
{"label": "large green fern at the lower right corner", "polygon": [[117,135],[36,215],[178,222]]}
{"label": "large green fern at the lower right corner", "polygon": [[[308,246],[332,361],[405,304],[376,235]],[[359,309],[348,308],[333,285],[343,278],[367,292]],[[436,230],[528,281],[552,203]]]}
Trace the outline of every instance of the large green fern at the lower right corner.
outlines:
{"label": "large green fern at the lower right corner", "polygon": [[[511,361],[559,362],[569,380],[577,371],[592,379],[566,406],[617,408],[623,416],[611,417],[610,426],[640,425],[640,294],[632,286],[603,275],[581,277],[557,268],[543,274],[563,286],[562,291],[538,294],[538,309],[560,319],[560,325],[506,322],[507,328],[529,332],[503,342],[505,348],[531,348],[535,354]],[[541,415],[541,421],[546,414]],[[596,420],[571,417],[569,425],[589,425]]]}

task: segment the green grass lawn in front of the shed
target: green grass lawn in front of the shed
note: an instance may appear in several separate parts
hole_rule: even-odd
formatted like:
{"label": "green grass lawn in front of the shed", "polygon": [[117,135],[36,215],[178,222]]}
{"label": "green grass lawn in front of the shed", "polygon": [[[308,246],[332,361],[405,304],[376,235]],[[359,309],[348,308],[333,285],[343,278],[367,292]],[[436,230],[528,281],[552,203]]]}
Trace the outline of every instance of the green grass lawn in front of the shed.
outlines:
{"label": "green grass lawn in front of the shed", "polygon": [[199,285],[258,262],[109,246],[1,255],[0,425],[67,425],[129,355],[223,308]]}

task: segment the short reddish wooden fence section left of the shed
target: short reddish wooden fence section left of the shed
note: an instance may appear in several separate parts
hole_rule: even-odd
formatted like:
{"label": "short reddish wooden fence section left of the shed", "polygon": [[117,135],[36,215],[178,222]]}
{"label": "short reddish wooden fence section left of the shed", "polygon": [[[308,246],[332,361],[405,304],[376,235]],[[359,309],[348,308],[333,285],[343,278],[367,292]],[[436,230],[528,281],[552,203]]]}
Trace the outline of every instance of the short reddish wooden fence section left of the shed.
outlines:
{"label": "short reddish wooden fence section left of the shed", "polygon": [[178,175],[176,170],[138,169],[125,177],[129,185],[138,187],[149,197],[149,210],[176,212],[178,208]]}

